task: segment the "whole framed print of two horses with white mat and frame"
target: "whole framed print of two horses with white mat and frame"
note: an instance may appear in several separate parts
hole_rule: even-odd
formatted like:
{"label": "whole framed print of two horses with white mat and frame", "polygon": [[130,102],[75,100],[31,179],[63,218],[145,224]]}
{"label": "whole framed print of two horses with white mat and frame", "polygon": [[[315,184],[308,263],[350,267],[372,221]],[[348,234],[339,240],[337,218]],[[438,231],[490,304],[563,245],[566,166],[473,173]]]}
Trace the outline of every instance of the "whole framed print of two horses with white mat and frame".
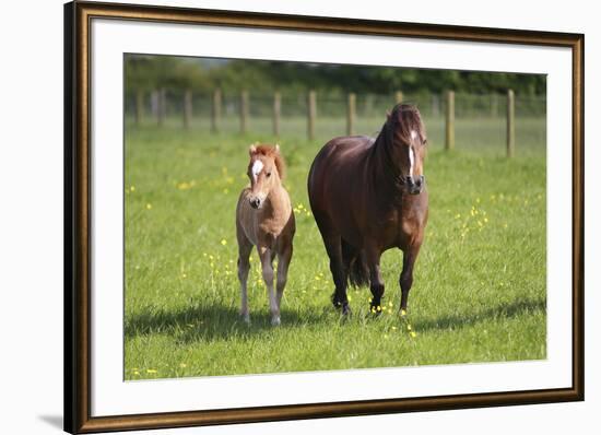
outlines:
{"label": "whole framed print of two horses with white mat and frame", "polygon": [[584,400],[584,35],[64,32],[68,432]]}

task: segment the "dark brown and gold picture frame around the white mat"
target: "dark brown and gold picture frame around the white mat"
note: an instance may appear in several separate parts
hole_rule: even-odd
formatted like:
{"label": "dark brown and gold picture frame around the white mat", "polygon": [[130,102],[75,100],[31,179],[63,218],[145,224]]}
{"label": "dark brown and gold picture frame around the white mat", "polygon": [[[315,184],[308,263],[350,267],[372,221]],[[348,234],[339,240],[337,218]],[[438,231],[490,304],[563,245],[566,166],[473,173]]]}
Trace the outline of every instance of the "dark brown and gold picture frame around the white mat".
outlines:
{"label": "dark brown and gold picture frame around the white mat", "polygon": [[[94,19],[567,47],[573,54],[573,381],[570,388],[91,416],[90,24]],[[70,433],[249,423],[584,400],[584,46],[581,34],[71,2],[64,5],[64,428]]]}

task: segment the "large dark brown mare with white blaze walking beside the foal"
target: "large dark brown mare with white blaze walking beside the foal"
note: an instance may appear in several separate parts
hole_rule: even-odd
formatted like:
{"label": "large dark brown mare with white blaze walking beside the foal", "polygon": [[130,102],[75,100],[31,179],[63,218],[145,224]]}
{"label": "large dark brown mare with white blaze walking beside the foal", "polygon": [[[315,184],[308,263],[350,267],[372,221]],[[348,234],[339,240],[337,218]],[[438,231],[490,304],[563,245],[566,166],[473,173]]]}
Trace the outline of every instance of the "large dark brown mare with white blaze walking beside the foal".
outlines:
{"label": "large dark brown mare with white blaze walking beside the foal", "polygon": [[380,256],[403,251],[401,313],[406,310],[413,264],[424,240],[428,195],[424,179],[426,133],[415,106],[399,104],[377,139],[334,138],[315,157],[308,190],[335,284],[332,302],[350,313],[347,281],[369,283],[372,310],[384,295]]}

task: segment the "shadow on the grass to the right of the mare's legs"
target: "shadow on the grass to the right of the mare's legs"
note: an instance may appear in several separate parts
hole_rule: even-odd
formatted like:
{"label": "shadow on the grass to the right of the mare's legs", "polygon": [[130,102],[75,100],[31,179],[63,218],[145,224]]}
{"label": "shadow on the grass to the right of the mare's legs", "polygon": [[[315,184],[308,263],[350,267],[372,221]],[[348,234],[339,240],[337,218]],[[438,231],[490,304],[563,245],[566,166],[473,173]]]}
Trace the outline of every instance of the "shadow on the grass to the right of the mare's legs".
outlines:
{"label": "shadow on the grass to the right of the mare's legs", "polygon": [[473,326],[480,321],[494,319],[511,319],[526,314],[546,311],[546,299],[519,299],[510,304],[497,305],[473,314],[456,314],[437,319],[416,320],[413,326],[421,332],[433,330],[457,330]]}

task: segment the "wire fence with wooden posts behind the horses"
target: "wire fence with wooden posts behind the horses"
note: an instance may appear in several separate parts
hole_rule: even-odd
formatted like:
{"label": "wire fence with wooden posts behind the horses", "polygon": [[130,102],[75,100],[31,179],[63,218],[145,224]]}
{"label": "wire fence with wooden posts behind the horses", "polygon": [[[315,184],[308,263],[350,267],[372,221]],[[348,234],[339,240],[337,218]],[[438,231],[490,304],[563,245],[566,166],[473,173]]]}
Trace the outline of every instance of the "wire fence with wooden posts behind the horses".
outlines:
{"label": "wire fence with wooden posts behind the horses", "polygon": [[417,106],[433,148],[453,148],[456,143],[458,149],[510,155],[510,146],[518,154],[544,152],[546,146],[546,98],[514,95],[511,91],[507,95],[321,95],[161,89],[129,95],[125,108],[130,126],[247,133],[256,134],[258,140],[275,137],[327,141],[350,133],[376,136],[386,113],[401,101]]}

